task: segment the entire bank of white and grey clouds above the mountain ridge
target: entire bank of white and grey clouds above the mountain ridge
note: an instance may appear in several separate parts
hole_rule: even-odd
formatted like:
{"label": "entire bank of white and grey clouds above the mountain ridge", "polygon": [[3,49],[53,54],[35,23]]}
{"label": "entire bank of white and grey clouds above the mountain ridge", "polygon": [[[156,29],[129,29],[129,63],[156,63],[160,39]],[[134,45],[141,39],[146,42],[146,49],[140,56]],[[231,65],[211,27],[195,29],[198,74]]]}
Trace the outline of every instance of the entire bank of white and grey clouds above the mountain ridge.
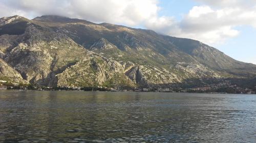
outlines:
{"label": "entire bank of white and grey clouds above the mountain ridge", "polygon": [[93,22],[143,26],[158,33],[218,44],[236,37],[237,26],[256,28],[255,0],[195,0],[181,20],[159,16],[157,0],[0,0],[0,16],[62,15]]}

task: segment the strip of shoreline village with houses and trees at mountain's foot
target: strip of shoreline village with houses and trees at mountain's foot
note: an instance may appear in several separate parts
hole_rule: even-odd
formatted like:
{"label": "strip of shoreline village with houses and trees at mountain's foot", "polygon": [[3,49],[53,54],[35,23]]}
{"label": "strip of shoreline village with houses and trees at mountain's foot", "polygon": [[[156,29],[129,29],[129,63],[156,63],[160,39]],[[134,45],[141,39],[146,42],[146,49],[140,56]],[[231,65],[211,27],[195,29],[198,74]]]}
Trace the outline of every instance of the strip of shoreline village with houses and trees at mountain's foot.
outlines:
{"label": "strip of shoreline village with houses and trees at mountain's foot", "polygon": [[0,80],[0,90],[37,90],[37,91],[110,91],[110,92],[173,92],[173,93],[228,93],[228,94],[256,94],[256,86],[252,88],[243,88],[237,84],[232,84],[230,80],[221,80],[219,83],[205,84],[194,88],[161,88],[161,87],[136,87],[123,88],[116,86],[108,87],[72,87],[61,85],[59,87],[34,87],[31,84],[7,85],[7,81]]}

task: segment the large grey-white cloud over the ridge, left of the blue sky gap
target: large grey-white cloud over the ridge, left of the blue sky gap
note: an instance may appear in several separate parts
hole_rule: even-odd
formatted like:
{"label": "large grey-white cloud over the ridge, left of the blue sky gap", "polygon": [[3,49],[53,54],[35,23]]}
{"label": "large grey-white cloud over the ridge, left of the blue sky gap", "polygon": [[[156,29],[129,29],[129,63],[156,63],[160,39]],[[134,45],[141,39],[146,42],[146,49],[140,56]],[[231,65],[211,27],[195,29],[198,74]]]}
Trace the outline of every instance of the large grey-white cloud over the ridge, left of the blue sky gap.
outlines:
{"label": "large grey-white cloud over the ridge, left of the blue sky gap", "polygon": [[[157,4],[157,0],[0,0],[0,6],[9,8],[9,12],[19,11],[22,12],[19,15],[30,18],[52,14],[131,26],[155,17]],[[0,16],[12,14],[0,13]]]}

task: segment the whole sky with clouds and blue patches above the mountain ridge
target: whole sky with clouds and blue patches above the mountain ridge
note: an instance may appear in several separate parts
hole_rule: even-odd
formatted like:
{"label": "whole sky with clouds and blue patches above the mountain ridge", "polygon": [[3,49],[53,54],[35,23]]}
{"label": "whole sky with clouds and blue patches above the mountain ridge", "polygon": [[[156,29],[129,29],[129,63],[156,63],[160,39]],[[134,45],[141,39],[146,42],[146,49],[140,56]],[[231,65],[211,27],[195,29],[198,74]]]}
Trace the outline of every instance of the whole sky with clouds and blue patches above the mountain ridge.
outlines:
{"label": "whole sky with clouds and blue patches above the mountain ridge", "polygon": [[256,64],[256,0],[0,0],[0,17],[60,15],[199,40]]}

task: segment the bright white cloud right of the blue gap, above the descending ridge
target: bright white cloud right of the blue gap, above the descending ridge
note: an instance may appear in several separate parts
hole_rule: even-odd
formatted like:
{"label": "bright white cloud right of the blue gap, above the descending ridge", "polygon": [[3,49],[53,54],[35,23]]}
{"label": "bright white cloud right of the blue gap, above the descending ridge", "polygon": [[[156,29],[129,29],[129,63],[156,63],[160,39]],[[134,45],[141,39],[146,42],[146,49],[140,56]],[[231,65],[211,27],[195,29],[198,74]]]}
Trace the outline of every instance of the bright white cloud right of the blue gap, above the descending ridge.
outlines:
{"label": "bright white cloud right of the blue gap, above the descending ridge", "polygon": [[202,6],[191,8],[180,21],[162,17],[166,19],[159,18],[159,22],[148,21],[147,27],[163,34],[196,39],[210,45],[223,43],[238,36],[237,26],[250,25],[256,28],[255,0],[197,1],[200,1]]}

